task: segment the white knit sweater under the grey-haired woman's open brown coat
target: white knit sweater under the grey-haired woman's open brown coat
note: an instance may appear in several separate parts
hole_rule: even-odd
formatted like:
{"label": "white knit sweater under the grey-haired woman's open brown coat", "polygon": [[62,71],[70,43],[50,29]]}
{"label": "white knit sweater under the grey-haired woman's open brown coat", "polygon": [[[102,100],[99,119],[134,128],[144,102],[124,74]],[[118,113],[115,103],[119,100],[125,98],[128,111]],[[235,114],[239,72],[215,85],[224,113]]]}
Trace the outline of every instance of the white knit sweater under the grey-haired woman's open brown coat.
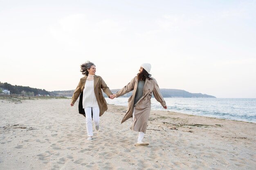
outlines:
{"label": "white knit sweater under the grey-haired woman's open brown coat", "polygon": [[94,81],[86,80],[83,89],[83,108],[86,107],[99,107],[95,93],[94,93]]}

